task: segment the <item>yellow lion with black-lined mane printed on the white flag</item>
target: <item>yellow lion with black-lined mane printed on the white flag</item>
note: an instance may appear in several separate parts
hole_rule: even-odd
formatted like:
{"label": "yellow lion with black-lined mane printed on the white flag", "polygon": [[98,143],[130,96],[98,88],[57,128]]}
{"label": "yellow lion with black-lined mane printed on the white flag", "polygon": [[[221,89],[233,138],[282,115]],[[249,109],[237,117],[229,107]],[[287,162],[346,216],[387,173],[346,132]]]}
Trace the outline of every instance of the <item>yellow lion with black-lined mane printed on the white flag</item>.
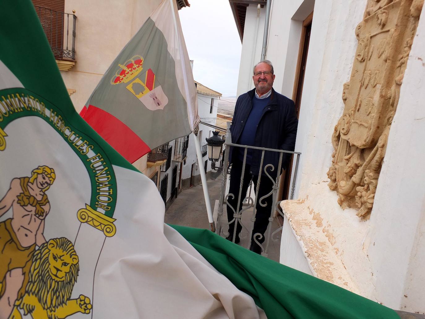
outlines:
{"label": "yellow lion with black-lined mane printed on the white flag", "polygon": [[50,239],[35,251],[25,294],[15,302],[10,319],[31,314],[34,319],[60,319],[74,313],[90,313],[86,296],[70,299],[79,271],[74,245],[65,237]]}

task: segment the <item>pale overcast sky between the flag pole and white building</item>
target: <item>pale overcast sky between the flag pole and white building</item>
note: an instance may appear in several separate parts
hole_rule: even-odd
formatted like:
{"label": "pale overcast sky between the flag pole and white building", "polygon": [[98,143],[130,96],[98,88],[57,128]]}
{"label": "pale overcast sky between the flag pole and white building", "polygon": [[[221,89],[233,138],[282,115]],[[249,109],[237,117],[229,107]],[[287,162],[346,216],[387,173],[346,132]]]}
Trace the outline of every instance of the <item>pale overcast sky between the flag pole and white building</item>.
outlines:
{"label": "pale overcast sky between the flag pole and white building", "polygon": [[179,10],[181,28],[195,81],[235,96],[241,61],[241,39],[228,0],[189,0]]}

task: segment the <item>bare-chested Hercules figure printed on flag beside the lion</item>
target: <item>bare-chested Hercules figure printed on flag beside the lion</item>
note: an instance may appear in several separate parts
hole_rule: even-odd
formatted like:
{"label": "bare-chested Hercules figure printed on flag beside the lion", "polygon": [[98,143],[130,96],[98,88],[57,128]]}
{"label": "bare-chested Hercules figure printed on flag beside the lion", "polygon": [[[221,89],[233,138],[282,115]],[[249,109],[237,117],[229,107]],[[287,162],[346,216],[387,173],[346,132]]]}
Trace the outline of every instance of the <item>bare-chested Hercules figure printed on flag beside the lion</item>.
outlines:
{"label": "bare-chested Hercules figure printed on flag beside the lion", "polygon": [[7,318],[25,291],[36,246],[46,242],[44,219],[50,211],[45,192],[53,184],[53,168],[39,166],[31,177],[14,178],[0,201],[0,217],[12,208],[12,218],[0,222],[0,319]]}

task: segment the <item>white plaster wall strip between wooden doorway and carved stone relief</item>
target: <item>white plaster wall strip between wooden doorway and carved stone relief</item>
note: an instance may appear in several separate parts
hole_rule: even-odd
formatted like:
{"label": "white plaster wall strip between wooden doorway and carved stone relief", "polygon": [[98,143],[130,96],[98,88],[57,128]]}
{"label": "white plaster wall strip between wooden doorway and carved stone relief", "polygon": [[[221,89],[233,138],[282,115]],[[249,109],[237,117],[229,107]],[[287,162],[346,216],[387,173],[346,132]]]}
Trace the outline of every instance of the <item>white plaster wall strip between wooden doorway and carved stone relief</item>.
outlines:
{"label": "white plaster wall strip between wooden doorway and carved stone relief", "polygon": [[[295,198],[305,194],[300,188],[308,188],[311,181],[326,179],[329,154],[333,150],[330,137],[343,111],[343,83],[350,77],[357,47],[354,29],[363,18],[365,5],[366,0],[326,0],[314,7],[295,144],[295,150],[304,153],[300,158]],[[312,162],[323,165],[312,166],[309,164]],[[315,176],[303,179],[306,174]]]}

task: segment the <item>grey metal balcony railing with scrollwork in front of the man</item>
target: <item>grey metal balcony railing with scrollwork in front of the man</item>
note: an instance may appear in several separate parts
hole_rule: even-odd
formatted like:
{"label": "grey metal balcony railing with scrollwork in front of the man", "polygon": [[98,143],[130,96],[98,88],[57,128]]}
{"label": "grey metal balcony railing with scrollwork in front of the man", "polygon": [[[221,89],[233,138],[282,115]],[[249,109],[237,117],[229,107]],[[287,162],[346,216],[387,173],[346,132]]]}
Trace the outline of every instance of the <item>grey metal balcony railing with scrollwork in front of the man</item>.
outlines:
{"label": "grey metal balcony railing with scrollwork in front of the man", "polygon": [[[279,171],[283,162],[283,154],[285,153],[294,154],[294,156],[296,157],[295,171],[294,171],[294,176],[292,179],[292,187],[291,187],[292,189],[291,189],[291,195],[290,195],[290,199],[293,199],[301,153],[292,152],[292,151],[284,151],[279,149],[272,149],[272,148],[239,145],[239,144],[232,143],[231,141],[232,141],[232,135],[230,133],[230,130],[227,129],[226,140],[224,144],[226,147],[226,150],[228,150],[230,146],[242,148],[244,150],[244,157],[242,161],[241,178],[240,178],[241,181],[240,181],[239,191],[237,194],[232,194],[232,193],[227,194],[226,184],[227,184],[227,181],[229,180],[230,172],[234,168],[232,168],[232,166],[228,168],[229,154],[226,151],[224,156],[223,170],[222,170],[221,193],[220,193],[220,198],[218,202],[216,232],[217,234],[224,235],[225,237],[230,235],[232,238],[232,241],[235,242],[236,236],[237,236],[236,232],[238,228],[237,225],[240,225],[239,227],[242,228],[242,231],[239,234],[239,238],[248,239],[246,248],[250,247],[251,238],[253,238],[253,240],[257,243],[257,245],[260,246],[262,251],[261,254],[263,256],[268,256],[267,250],[269,248],[270,239],[272,239],[272,241],[274,242],[278,242],[279,238],[277,238],[277,236],[280,234],[283,228],[282,226],[272,231],[272,223],[274,221],[275,212],[277,211],[278,214],[280,214],[283,218],[283,212],[280,210],[280,201],[278,201],[278,194],[280,189],[280,172]],[[252,172],[254,173],[253,175],[255,175],[255,178],[253,178],[253,176],[251,176],[250,174],[244,173],[245,166],[246,166],[246,154],[249,149],[261,151],[260,171]],[[264,154],[266,152],[275,152],[279,154],[278,167],[275,167],[273,164],[264,162]],[[276,174],[277,176],[273,178],[272,176],[275,174],[272,174],[272,172],[276,172],[276,170],[278,170],[278,173]],[[245,179],[249,179],[249,181]],[[255,196],[255,194],[258,194],[261,183],[268,183],[272,186],[270,187],[271,190],[268,194],[258,198],[258,196]],[[251,192],[252,184],[255,184],[254,185],[255,187],[253,187],[253,191],[255,192],[255,194],[253,194],[254,192]],[[248,188],[249,192],[247,191],[246,194],[242,194],[243,185],[247,185],[246,187]],[[269,202],[269,204],[271,204],[271,208],[270,208],[271,215],[269,216],[267,230],[264,234],[260,234],[260,233],[253,234],[254,222],[256,218],[255,216],[256,210],[259,206],[266,207],[268,205],[267,201]],[[230,202],[233,203],[233,206]],[[227,213],[232,212],[231,214],[233,216],[229,222],[228,220],[225,220],[225,221],[222,220],[223,211],[224,211],[223,206],[227,208],[226,209]],[[250,214],[251,217],[250,219],[244,218],[244,221],[243,221],[242,220],[243,216],[246,216],[246,214]],[[230,234],[227,231],[227,225],[230,225],[232,223],[235,223],[235,227],[234,227],[233,233]]]}

